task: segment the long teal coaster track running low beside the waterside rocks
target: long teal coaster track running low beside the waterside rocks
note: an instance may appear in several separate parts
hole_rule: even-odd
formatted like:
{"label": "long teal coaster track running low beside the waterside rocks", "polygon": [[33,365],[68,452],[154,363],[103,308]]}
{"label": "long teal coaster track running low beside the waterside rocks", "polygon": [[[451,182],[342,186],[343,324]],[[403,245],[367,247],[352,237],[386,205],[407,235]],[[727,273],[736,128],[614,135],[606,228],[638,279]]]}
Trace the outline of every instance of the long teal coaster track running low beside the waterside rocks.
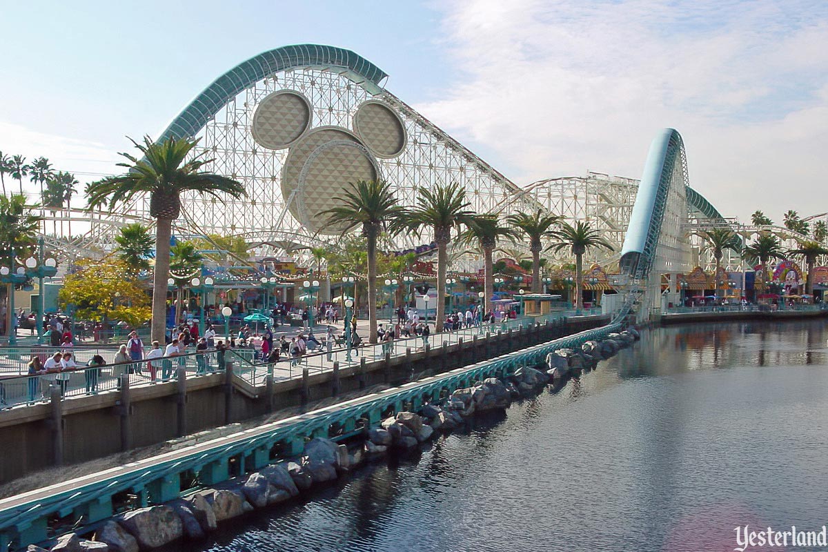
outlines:
{"label": "long teal coaster track running low beside the waterside rocks", "polygon": [[130,507],[123,501],[127,493],[138,497],[141,506],[168,502],[180,496],[182,481],[192,481],[194,474],[201,484],[215,485],[229,479],[233,470],[243,474],[301,454],[306,438],[342,439],[354,431],[359,420],[378,425],[388,410],[416,410],[423,401],[436,400],[485,377],[505,377],[517,367],[543,362],[546,354],[558,348],[575,347],[622,328],[623,324],[614,322],[420,382],[0,500],[0,551],[46,540],[50,520],[55,518],[65,518],[68,526],[102,521]]}

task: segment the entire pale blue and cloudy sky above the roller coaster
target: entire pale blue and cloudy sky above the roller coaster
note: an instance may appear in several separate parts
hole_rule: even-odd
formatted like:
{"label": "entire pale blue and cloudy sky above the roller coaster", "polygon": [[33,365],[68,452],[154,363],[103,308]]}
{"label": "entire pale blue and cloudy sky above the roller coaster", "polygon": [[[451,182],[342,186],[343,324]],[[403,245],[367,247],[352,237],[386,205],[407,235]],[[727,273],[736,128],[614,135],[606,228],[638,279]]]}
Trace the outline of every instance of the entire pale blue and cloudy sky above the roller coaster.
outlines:
{"label": "entire pale blue and cloudy sky above the roller coaster", "polygon": [[316,43],[378,65],[517,185],[640,178],[673,127],[724,216],[828,211],[825,0],[0,0],[0,29],[0,151],[81,182],[117,172],[127,136],[156,137],[239,62]]}

